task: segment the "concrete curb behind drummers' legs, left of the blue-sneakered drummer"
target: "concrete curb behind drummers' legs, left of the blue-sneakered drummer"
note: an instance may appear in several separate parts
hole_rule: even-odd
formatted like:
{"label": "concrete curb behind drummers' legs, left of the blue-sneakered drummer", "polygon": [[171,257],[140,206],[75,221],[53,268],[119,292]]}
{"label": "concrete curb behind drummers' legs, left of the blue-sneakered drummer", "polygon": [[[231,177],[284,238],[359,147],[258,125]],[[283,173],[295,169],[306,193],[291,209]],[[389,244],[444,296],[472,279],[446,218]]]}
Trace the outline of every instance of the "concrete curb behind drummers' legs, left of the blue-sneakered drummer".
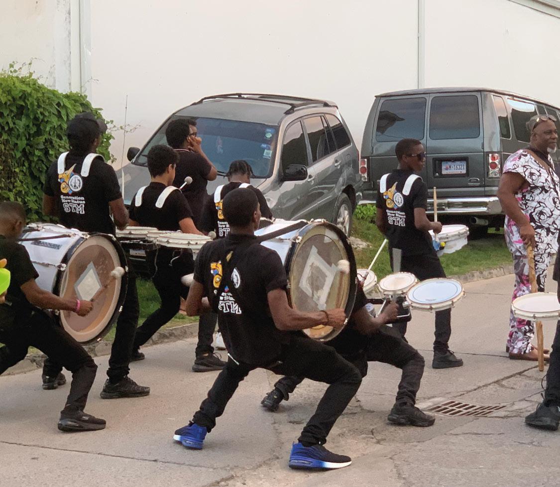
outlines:
{"label": "concrete curb behind drummers' legs, left of the blue-sneakered drummer", "polygon": [[[166,342],[174,342],[178,340],[185,340],[185,338],[192,338],[198,335],[198,322],[195,323],[185,323],[179,326],[174,326],[170,328],[162,328],[153,335],[150,340],[146,342],[143,347],[152,346],[157,344],[163,344]],[[95,344],[86,345],[84,349],[92,357],[101,357],[104,355],[109,355],[111,353],[111,342],[101,340]],[[31,372],[32,370],[37,370],[43,368],[43,361],[45,360],[44,354],[29,354],[24,360],[17,363],[13,367],[6,370],[2,375],[15,375],[23,374],[25,372]]]}

